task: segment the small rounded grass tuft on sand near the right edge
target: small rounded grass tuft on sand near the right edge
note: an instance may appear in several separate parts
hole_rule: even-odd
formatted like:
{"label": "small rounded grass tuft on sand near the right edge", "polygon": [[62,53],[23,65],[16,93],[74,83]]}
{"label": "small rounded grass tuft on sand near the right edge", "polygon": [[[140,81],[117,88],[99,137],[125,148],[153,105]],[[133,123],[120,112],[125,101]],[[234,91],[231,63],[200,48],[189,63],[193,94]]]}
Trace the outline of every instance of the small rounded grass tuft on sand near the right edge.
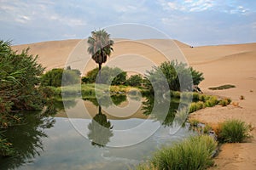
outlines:
{"label": "small rounded grass tuft on sand near the right edge", "polygon": [[218,131],[218,140],[224,143],[241,143],[252,138],[250,126],[236,119],[223,122]]}

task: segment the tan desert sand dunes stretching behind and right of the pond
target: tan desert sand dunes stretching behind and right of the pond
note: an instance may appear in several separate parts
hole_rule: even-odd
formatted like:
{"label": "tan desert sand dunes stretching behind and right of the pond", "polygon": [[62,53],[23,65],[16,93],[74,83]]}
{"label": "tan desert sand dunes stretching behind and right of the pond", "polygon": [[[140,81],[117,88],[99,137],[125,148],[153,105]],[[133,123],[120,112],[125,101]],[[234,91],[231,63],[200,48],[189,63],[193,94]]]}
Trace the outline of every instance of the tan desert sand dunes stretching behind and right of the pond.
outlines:
{"label": "tan desert sand dunes stretching behind and right of the pond", "polygon": [[[212,169],[256,169],[256,43],[190,48],[182,42],[166,41],[154,39],[141,40],[137,43],[119,40],[114,44],[113,55],[106,65],[143,73],[152,66],[152,63],[158,65],[166,60],[165,54],[170,54],[173,59],[176,55],[184,54],[189,65],[204,73],[205,80],[201,82],[200,87],[205,94],[230,97],[236,104],[227,107],[218,105],[196,111],[190,118],[208,123],[212,127],[217,127],[219,122],[230,118],[237,118],[254,127],[254,138],[251,141],[242,144],[223,144],[215,158],[216,166]],[[96,67],[86,52],[85,40],[38,42],[13,48],[20,51],[27,47],[31,48],[31,54],[38,54],[38,62],[46,67],[46,71],[72,65],[72,68],[81,68],[85,73]],[[123,56],[127,60],[119,59],[118,56]],[[84,58],[87,59],[86,62],[81,62],[80,59]],[[232,84],[236,88],[216,91],[208,89],[224,84]],[[241,100],[241,95],[245,99]]]}

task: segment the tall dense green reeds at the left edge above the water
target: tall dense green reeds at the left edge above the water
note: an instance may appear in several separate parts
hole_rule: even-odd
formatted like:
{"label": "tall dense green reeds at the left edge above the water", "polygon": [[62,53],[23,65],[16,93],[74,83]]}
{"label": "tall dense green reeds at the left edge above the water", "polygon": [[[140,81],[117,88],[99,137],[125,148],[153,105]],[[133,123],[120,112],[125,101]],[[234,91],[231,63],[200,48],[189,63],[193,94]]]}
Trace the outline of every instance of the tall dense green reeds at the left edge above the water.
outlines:
{"label": "tall dense green reeds at the left edge above the water", "polygon": [[[40,110],[44,97],[36,86],[44,68],[37,63],[38,56],[20,54],[10,48],[9,42],[0,41],[0,112],[3,122],[17,121],[9,114],[14,110]],[[10,119],[9,119],[10,118]]]}

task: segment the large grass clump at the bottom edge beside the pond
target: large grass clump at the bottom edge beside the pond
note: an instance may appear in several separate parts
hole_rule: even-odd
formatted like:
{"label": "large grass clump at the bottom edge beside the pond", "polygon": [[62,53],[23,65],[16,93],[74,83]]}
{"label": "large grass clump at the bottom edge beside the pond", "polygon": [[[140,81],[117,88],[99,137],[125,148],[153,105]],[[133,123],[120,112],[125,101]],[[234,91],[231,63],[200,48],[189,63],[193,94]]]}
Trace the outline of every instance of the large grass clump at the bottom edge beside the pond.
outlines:
{"label": "large grass clump at the bottom edge beside the pond", "polygon": [[137,169],[207,169],[213,165],[212,156],[216,148],[217,142],[210,136],[190,137],[182,143],[156,151],[151,160]]}

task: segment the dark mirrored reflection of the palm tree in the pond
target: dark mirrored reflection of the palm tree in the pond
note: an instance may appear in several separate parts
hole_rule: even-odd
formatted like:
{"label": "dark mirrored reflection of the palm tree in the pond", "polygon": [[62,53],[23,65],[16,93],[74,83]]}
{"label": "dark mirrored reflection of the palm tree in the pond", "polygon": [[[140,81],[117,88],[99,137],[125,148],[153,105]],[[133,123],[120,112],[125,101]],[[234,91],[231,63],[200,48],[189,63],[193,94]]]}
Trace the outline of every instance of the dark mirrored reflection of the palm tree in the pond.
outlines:
{"label": "dark mirrored reflection of the palm tree in the pond", "polygon": [[88,138],[92,145],[104,147],[109,142],[109,138],[113,136],[111,122],[108,121],[107,116],[102,114],[102,107],[99,106],[99,113],[93,117],[88,125],[90,133]]}

